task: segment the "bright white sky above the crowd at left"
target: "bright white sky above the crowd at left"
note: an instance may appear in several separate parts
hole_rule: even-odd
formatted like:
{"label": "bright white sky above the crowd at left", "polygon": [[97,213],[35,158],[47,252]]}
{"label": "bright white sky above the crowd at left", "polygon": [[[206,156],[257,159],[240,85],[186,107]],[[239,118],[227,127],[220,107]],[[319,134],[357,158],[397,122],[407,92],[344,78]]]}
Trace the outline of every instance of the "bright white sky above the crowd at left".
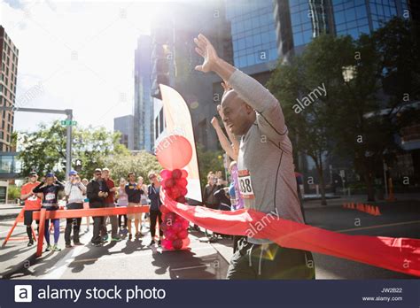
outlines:
{"label": "bright white sky above the crowd at left", "polygon": [[[113,118],[133,110],[136,39],[164,9],[162,1],[0,0],[0,24],[19,49],[17,101],[73,109],[78,126],[113,130]],[[16,112],[14,130],[54,119],[65,115]]]}

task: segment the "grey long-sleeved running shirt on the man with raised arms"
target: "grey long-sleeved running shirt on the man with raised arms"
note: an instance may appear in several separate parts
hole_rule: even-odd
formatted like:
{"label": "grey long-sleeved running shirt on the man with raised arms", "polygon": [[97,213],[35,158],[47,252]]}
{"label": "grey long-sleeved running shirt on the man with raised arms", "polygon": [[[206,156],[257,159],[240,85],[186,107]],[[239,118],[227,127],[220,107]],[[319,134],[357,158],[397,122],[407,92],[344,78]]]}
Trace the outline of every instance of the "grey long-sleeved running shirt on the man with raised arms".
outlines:
{"label": "grey long-sleeved running shirt on the man with raised arms", "polygon": [[237,169],[239,189],[245,208],[268,215],[250,225],[250,243],[272,243],[257,240],[261,227],[272,219],[290,219],[303,223],[294,174],[292,142],[284,125],[284,115],[276,97],[260,82],[237,70],[229,84],[255,112],[257,119],[245,135],[241,136]]}

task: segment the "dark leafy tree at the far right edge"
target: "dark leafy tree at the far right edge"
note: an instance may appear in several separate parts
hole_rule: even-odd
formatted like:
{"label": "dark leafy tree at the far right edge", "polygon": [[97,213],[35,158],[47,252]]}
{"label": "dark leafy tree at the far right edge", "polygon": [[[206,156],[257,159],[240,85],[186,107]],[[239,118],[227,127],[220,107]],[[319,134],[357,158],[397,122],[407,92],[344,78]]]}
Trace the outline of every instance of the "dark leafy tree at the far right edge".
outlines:
{"label": "dark leafy tree at the far right edge", "polygon": [[[383,160],[401,150],[395,136],[418,117],[418,112],[408,112],[406,104],[415,98],[419,85],[418,33],[413,35],[414,31],[409,21],[392,19],[373,35],[361,35],[354,42],[354,76],[343,82],[332,109],[335,151],[353,156],[368,201],[375,199],[373,181],[383,173]],[[404,100],[404,94],[411,99]],[[406,112],[401,112],[403,108]]]}

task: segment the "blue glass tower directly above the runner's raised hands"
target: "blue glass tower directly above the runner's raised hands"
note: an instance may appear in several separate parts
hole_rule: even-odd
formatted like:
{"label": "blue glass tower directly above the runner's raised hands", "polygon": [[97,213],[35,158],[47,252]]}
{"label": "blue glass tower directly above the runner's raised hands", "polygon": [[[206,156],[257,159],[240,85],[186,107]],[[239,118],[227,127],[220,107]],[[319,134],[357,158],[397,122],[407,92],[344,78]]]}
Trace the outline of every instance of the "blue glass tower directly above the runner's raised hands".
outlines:
{"label": "blue glass tower directly above the runner's raised hands", "polygon": [[260,65],[261,71],[265,71],[266,64],[278,58],[273,10],[272,0],[226,1],[233,60],[238,68]]}

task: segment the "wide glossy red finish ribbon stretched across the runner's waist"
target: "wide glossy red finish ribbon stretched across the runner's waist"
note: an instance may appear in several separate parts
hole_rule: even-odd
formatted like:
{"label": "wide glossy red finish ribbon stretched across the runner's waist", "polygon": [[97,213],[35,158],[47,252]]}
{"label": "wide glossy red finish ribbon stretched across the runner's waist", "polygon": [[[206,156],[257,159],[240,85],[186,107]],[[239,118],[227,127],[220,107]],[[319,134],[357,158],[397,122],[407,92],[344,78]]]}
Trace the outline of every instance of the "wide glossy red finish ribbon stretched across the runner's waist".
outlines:
{"label": "wide glossy red finish ribbon stretched across the runner's waist", "polygon": [[420,240],[417,239],[344,235],[254,210],[227,212],[178,204],[165,193],[162,200],[169,211],[217,233],[268,238],[283,247],[420,276]]}

